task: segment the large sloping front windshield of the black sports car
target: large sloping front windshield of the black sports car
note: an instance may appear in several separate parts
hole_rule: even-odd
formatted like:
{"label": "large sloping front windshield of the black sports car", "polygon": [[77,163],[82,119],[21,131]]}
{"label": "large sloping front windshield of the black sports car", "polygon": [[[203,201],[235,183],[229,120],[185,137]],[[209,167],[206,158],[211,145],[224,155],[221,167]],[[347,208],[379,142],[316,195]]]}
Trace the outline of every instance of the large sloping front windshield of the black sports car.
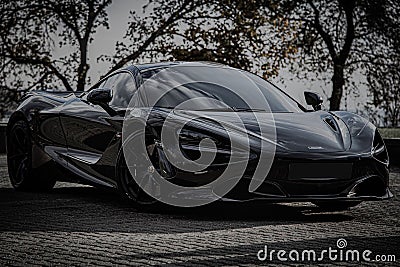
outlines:
{"label": "large sloping front windshield of the black sports car", "polygon": [[189,110],[303,112],[266,80],[228,67],[179,66],[144,72],[148,106]]}

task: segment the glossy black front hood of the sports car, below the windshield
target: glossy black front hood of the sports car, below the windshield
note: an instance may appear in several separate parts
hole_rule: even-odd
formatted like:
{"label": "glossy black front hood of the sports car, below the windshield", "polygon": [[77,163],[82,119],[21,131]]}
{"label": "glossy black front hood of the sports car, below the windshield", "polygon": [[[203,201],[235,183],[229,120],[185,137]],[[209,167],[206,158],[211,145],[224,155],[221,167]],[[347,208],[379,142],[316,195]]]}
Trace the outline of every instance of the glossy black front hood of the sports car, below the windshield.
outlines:
{"label": "glossy black front hood of the sports car, below the windshield", "polygon": [[[250,138],[268,139],[276,142],[276,151],[279,152],[344,152],[351,146],[351,136],[346,124],[337,116],[325,112],[307,113],[257,113],[259,124],[252,112],[216,112],[216,111],[174,111],[177,116],[197,118],[204,124],[215,120],[224,127],[237,131],[238,116],[245,126]],[[261,118],[261,120],[260,120]],[[211,126],[211,125],[210,125]],[[271,129],[275,126],[276,137],[271,134],[260,134],[262,129]],[[212,128],[210,128],[211,130]],[[268,131],[271,132],[270,130]]]}

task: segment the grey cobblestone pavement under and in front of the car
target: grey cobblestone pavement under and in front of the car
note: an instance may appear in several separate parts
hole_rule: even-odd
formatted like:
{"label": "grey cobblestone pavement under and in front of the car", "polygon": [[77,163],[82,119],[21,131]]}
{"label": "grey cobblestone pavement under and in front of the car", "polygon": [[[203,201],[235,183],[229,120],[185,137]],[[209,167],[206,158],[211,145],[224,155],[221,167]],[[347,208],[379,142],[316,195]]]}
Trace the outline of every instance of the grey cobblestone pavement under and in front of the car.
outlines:
{"label": "grey cobblestone pavement under and in front of the car", "polygon": [[51,193],[15,192],[0,156],[0,265],[266,265],[257,259],[265,245],[320,252],[337,249],[339,238],[346,239],[346,249],[395,255],[397,262],[386,264],[399,264],[397,171],[391,173],[392,200],[345,212],[301,203],[221,203],[146,213],[89,186],[60,183]]}

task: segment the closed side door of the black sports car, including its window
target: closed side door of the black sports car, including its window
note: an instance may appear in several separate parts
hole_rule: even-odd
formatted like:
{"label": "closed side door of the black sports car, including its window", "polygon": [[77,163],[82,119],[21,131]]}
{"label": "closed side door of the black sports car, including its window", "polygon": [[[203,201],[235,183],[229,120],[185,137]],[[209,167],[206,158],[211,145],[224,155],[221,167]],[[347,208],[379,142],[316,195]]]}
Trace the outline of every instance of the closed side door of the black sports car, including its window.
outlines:
{"label": "closed side door of the black sports car, including its window", "polygon": [[[116,73],[99,85],[99,88],[113,91],[110,107],[123,111],[129,103],[130,92],[136,87],[129,72]],[[119,151],[120,129],[116,121],[122,124],[123,113],[110,116],[99,105],[93,105],[86,97],[77,98],[65,105],[60,112],[64,128],[69,164],[81,176],[99,182],[116,185],[115,164]]]}

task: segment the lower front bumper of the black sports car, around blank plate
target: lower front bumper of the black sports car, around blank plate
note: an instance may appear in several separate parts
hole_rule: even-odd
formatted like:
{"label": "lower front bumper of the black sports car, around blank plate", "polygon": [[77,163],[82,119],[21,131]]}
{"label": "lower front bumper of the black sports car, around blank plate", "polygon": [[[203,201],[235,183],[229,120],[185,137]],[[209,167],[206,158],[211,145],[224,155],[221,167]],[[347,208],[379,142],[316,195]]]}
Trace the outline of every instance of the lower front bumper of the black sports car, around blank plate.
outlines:
{"label": "lower front bumper of the black sports car, around blank plate", "polygon": [[[385,200],[393,197],[389,189],[389,171],[386,165],[372,157],[347,160],[313,160],[313,164],[343,162],[352,164],[350,177],[337,179],[293,179],[289,175],[290,164],[309,163],[305,159],[278,158],[274,160],[271,170],[254,192],[249,192],[251,164],[244,177],[226,195],[218,197],[223,201],[266,200],[270,202],[309,202],[319,200],[338,201],[366,201]],[[223,186],[223,185],[222,185]],[[187,188],[186,188],[187,189]],[[175,197],[190,199],[215,199],[216,195],[211,188],[202,190],[185,190],[174,192]]]}

